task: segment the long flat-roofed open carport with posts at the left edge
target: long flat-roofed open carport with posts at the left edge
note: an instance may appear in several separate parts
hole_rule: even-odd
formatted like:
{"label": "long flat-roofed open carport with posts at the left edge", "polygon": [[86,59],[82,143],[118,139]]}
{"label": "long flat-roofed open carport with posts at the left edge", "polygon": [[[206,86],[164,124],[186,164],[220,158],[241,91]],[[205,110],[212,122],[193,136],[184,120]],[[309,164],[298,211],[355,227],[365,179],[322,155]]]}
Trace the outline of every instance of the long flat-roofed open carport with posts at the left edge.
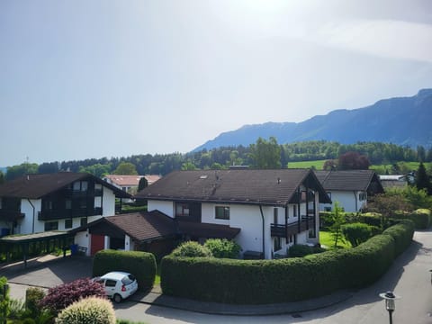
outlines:
{"label": "long flat-roofed open carport with posts at the left edge", "polygon": [[[27,267],[27,259],[29,257],[29,247],[31,243],[40,242],[42,247],[44,247],[45,254],[52,252],[50,249],[50,243],[55,245],[56,241],[58,246],[63,250],[63,257],[66,257],[66,250],[70,247],[71,242],[73,242],[74,234],[70,234],[64,231],[46,231],[41,233],[9,236],[0,238],[0,245],[4,246],[6,252],[6,262],[10,261],[11,253],[14,247],[21,247],[23,250],[23,261],[24,268]],[[43,251],[43,248],[42,248]]]}

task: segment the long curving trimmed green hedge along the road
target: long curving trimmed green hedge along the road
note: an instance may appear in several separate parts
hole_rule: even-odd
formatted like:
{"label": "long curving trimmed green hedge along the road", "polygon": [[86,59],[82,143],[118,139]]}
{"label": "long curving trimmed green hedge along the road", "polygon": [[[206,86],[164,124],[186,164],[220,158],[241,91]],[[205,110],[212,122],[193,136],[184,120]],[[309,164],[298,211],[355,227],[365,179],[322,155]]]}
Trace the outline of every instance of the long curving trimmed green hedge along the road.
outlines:
{"label": "long curving trimmed green hedge along the road", "polygon": [[205,302],[295,302],[374,283],[410,245],[412,222],[403,221],[358,247],[308,257],[229,260],[172,257],[161,262],[167,295]]}

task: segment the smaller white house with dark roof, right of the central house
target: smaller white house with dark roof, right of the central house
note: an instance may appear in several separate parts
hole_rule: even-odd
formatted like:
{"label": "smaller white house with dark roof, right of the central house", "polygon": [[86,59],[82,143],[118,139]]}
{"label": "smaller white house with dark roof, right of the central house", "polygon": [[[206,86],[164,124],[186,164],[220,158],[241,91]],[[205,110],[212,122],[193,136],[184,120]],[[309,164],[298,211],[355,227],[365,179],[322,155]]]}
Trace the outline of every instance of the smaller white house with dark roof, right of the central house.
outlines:
{"label": "smaller white house with dark roof, right of the central house", "polygon": [[368,198],[383,193],[383,185],[374,170],[315,171],[332,203],[320,203],[320,211],[331,211],[339,202],[344,211],[362,211]]}

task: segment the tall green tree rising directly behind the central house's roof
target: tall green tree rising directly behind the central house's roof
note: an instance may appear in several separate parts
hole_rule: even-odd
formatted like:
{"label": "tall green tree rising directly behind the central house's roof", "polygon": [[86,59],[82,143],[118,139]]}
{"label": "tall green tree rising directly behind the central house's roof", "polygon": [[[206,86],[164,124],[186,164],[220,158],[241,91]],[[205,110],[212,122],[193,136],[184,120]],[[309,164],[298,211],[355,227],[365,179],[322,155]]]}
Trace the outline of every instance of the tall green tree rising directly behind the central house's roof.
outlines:
{"label": "tall green tree rising directly behind the central house's roof", "polygon": [[281,147],[274,137],[259,138],[256,144],[250,145],[250,157],[257,168],[281,168]]}

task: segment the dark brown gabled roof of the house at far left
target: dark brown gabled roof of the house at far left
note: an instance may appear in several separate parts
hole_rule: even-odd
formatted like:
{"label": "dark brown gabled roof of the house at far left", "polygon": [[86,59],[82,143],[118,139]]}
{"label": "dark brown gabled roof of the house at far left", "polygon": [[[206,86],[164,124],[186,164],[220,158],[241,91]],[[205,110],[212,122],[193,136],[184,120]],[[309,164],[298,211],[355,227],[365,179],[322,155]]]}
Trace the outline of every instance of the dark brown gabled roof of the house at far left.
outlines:
{"label": "dark brown gabled roof of the house at far left", "polygon": [[40,199],[79,180],[93,179],[111,189],[119,198],[130,198],[129,193],[121,191],[112,184],[87,173],[58,172],[55,174],[23,175],[0,185],[0,197]]}

